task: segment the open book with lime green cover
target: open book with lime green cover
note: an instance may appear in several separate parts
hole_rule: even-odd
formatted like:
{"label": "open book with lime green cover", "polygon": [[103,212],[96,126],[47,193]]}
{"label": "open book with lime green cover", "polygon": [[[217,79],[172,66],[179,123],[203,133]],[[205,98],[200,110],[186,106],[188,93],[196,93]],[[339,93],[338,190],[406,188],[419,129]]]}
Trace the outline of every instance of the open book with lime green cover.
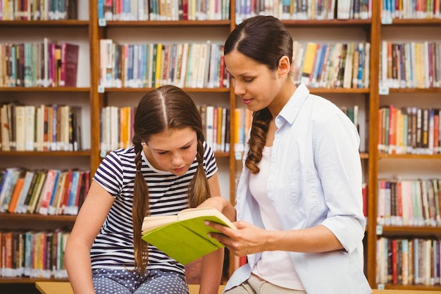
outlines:
{"label": "open book with lime green cover", "polygon": [[142,240],[156,246],[181,264],[188,264],[223,245],[209,232],[216,232],[204,221],[235,225],[214,208],[189,208],[173,216],[146,216],[142,223]]}

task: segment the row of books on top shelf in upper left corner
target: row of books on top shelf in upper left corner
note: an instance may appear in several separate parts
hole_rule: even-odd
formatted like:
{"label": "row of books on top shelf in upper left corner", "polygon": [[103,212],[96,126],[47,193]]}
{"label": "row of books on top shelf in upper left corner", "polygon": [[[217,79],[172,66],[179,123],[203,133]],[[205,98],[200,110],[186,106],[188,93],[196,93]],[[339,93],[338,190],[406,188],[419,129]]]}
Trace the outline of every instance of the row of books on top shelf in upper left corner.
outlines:
{"label": "row of books on top shelf in upper left corner", "polygon": [[75,0],[0,1],[0,20],[67,20],[77,18]]}

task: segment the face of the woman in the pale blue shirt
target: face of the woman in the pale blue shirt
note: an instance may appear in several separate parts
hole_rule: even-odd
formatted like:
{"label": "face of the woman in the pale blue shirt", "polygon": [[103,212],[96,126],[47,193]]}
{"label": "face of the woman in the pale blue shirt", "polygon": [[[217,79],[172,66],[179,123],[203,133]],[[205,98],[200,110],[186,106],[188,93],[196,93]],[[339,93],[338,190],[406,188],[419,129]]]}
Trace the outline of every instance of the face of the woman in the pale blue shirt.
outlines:
{"label": "face of the woman in the pale blue shirt", "polygon": [[235,94],[251,111],[270,106],[278,97],[282,79],[278,72],[254,61],[239,51],[225,55],[225,65],[232,77]]}

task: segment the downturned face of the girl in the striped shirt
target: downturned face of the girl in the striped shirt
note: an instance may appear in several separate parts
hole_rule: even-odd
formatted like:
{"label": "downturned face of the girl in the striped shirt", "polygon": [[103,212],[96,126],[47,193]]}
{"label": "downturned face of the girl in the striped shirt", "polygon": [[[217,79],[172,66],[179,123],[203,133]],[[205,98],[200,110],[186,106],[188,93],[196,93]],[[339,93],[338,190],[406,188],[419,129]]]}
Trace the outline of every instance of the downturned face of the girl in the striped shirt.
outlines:
{"label": "downturned face of the girl in the striped shirt", "polygon": [[151,135],[144,152],[156,169],[182,176],[196,157],[197,133],[189,127]]}

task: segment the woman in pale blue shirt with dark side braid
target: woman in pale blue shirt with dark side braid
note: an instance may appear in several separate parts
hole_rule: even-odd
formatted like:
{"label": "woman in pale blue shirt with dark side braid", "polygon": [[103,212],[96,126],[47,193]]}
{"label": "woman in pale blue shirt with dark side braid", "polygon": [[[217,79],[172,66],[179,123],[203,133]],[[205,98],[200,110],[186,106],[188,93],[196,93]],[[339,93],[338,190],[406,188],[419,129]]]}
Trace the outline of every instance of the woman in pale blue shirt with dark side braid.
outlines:
{"label": "woman in pale blue shirt with dark side braid", "polygon": [[291,78],[280,20],[244,20],[225,42],[235,94],[254,112],[237,188],[239,230],[212,234],[248,263],[225,293],[371,293],[359,135],[347,116]]}

